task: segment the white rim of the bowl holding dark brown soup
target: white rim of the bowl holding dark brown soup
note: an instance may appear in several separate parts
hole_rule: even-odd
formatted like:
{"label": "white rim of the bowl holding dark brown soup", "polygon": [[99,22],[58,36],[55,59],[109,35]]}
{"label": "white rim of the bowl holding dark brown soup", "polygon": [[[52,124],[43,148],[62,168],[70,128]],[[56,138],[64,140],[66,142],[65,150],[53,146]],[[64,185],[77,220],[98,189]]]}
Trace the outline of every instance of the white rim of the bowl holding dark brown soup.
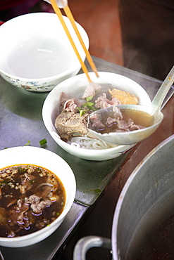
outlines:
{"label": "white rim of the bowl holding dark brown soup", "polygon": [[[72,194],[70,196],[70,202],[67,203],[67,200],[66,200],[66,205],[63,209],[63,212],[61,213],[60,216],[58,216],[57,219],[55,219],[53,222],[50,223],[49,226],[45,226],[44,228],[41,228],[33,233],[30,233],[30,234],[27,234],[27,235],[22,235],[20,237],[14,237],[14,238],[4,238],[4,237],[0,237],[0,242],[20,242],[20,241],[25,241],[25,240],[30,240],[30,238],[33,238],[33,237],[37,237],[39,235],[42,235],[42,233],[46,232],[46,230],[50,230],[50,229],[53,229],[57,223],[61,223],[63,221],[63,219],[65,218],[66,214],[68,214],[69,210],[70,210],[70,207],[72,207],[72,204],[74,202],[74,199],[75,199],[75,193],[76,193],[76,181],[75,181],[75,175],[73,174],[73,170],[70,168],[69,164],[63,160],[62,157],[60,157],[59,155],[57,155],[55,152],[52,152],[51,150],[46,150],[46,149],[43,149],[43,148],[39,148],[39,147],[35,147],[35,146],[15,146],[15,147],[12,147],[12,148],[8,148],[8,149],[4,149],[4,150],[0,150],[0,156],[2,153],[5,153],[6,155],[6,152],[8,153],[8,151],[10,150],[10,153],[13,153],[13,152],[18,152],[19,150],[21,152],[24,152],[25,150],[26,151],[29,151],[29,152],[32,152],[33,150],[36,150],[37,152],[39,151],[42,151],[42,154],[43,153],[47,153],[49,154],[50,156],[52,155],[52,157],[56,157],[58,160],[56,162],[58,162],[58,164],[60,164],[60,162],[62,162],[63,164],[66,165],[66,167],[68,168],[69,170],[69,174],[71,175],[71,178],[72,178],[72,183],[73,183],[73,188],[72,188]],[[54,159],[54,158],[53,158]],[[30,160],[30,159],[28,159]],[[33,160],[33,159],[32,159]],[[10,167],[11,165],[7,165],[6,167]],[[39,165],[42,167],[42,165]],[[5,167],[0,167],[0,170],[1,169],[4,169]],[[46,169],[46,167],[43,167],[44,169]],[[49,170],[49,169],[48,169]],[[51,171],[51,170],[50,170]],[[56,174],[55,174],[56,175]],[[58,177],[60,178],[60,177]],[[61,180],[61,178],[60,178]],[[58,227],[57,227],[58,228]]]}

